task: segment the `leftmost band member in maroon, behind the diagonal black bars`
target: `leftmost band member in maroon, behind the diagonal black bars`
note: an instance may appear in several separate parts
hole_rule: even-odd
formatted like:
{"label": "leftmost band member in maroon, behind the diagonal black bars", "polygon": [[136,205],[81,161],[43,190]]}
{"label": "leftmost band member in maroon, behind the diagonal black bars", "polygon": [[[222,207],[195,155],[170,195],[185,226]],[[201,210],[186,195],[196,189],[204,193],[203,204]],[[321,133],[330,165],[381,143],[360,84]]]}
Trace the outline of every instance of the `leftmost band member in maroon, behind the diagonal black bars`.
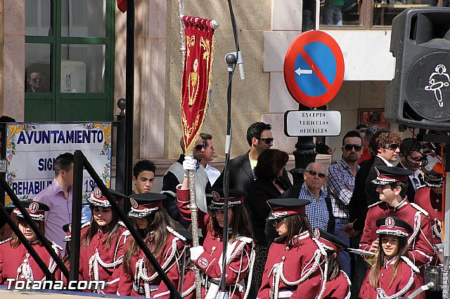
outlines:
{"label": "leftmost band member in maroon, behind the diagonal black bars", "polygon": [[[39,230],[44,234],[44,220],[45,213],[49,211],[49,206],[37,201],[22,201],[23,206],[27,210],[28,214],[34,220]],[[15,224],[18,225],[19,230],[30,241],[34,250],[40,256],[41,260],[49,266],[51,273],[55,273],[55,277],[59,277],[56,270],[56,263],[51,255],[46,250],[41,241],[37,239],[36,233],[30,228],[30,225],[25,221],[23,215],[18,208],[14,210],[17,216]],[[49,240],[50,241],[50,240]],[[63,249],[55,242],[51,241],[52,248],[59,256],[60,251]],[[60,270],[57,270],[59,272]],[[7,285],[6,279],[16,279],[22,281],[38,281],[44,280],[45,274],[42,272],[39,265],[37,265],[32,255],[27,251],[27,248],[22,244],[16,234],[12,234],[11,238],[6,239],[0,243],[0,283]],[[56,278],[58,279],[58,278]]]}

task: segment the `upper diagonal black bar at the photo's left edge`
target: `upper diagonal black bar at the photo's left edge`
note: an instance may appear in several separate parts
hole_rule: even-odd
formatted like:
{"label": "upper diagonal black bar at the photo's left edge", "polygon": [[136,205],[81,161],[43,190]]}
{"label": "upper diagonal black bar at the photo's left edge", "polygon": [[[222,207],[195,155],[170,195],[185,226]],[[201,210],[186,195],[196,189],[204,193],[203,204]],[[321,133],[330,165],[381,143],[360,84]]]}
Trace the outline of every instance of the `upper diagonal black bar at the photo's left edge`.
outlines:
{"label": "upper diagonal black bar at the photo's left edge", "polygon": [[[49,252],[51,258],[53,258],[53,260],[55,261],[56,265],[58,265],[58,267],[60,268],[61,272],[63,272],[65,277],[68,277],[69,272],[68,272],[68,269],[63,264],[63,261],[60,259],[58,254],[56,254],[56,252],[53,250],[53,248],[51,247],[50,241],[44,236],[44,234],[41,232],[41,230],[39,230],[39,227],[37,227],[36,223],[34,223],[34,220],[32,220],[30,215],[27,213],[27,210],[25,210],[25,208],[23,207],[23,204],[20,202],[18,197],[14,194],[13,190],[11,190],[11,187],[9,187],[8,183],[3,178],[3,176],[1,176],[1,178],[0,178],[0,185],[6,191],[6,194],[8,194],[9,197],[11,197],[11,201],[13,201],[13,204],[15,205],[15,207],[19,209],[20,213],[23,215],[23,218],[25,218],[25,220],[27,221],[28,225],[30,225],[30,228],[36,234],[37,239],[39,239],[39,241],[42,242],[42,245],[44,245],[46,250]],[[3,213],[6,213],[8,215],[8,217],[9,217],[9,214],[6,211],[6,208],[4,208],[3,206],[2,206],[2,211],[3,211]],[[8,218],[6,218],[6,219],[8,221]],[[11,219],[9,219],[9,220],[11,220]],[[8,224],[9,224],[9,222],[8,222]],[[14,225],[12,225],[11,227],[13,227],[13,226]],[[17,225],[15,225],[15,227],[17,227]],[[18,229],[18,227],[17,227],[17,229]],[[17,232],[20,232],[20,231],[17,231]],[[17,232],[14,231],[15,234],[17,234]],[[22,234],[22,233],[20,232],[20,234]],[[25,243],[24,243],[24,245],[25,245]],[[27,249],[30,251],[30,248],[27,248]],[[34,249],[32,251],[34,251]],[[35,253],[35,251],[34,251],[34,253]],[[46,268],[47,267],[48,266],[46,266]],[[42,269],[42,270],[44,271],[44,273],[46,273],[46,271],[44,269]],[[54,280],[53,275],[51,275],[51,280]]]}

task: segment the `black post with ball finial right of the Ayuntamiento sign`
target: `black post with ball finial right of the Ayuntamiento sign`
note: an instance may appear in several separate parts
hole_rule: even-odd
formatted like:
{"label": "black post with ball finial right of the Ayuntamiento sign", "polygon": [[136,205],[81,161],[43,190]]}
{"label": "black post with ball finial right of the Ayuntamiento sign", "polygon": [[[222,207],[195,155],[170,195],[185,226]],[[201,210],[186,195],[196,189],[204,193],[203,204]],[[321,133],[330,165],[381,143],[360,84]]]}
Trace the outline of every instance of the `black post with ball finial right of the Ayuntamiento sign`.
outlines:
{"label": "black post with ball finial right of the Ayuntamiento sign", "polygon": [[[126,194],[125,192],[125,166],[127,161],[125,161],[125,136],[127,135],[125,126],[125,112],[124,109],[127,107],[127,100],[120,98],[117,101],[117,107],[120,108],[120,114],[117,115],[117,121],[119,126],[117,126],[117,152],[115,155],[115,190],[117,192]],[[128,210],[125,210],[128,211]]]}

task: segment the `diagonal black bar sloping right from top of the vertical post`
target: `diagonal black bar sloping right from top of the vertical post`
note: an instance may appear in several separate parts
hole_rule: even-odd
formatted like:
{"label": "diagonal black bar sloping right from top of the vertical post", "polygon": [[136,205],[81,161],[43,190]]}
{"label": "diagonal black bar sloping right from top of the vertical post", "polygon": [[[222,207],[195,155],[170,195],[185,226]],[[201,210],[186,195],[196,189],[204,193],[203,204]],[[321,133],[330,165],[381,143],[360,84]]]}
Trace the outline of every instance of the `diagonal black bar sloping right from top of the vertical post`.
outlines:
{"label": "diagonal black bar sloping right from top of the vertical post", "polygon": [[[131,222],[127,218],[127,215],[125,215],[125,212],[122,211],[122,208],[120,208],[120,206],[117,204],[113,195],[110,194],[108,188],[103,183],[103,180],[101,180],[101,178],[98,177],[98,174],[96,173],[94,168],[91,166],[89,161],[87,161],[86,157],[84,157],[84,154],[80,150],[75,151],[75,163],[77,163],[77,162],[79,164],[84,165],[84,168],[86,168],[86,171],[89,173],[89,175],[91,175],[91,178],[94,180],[94,182],[96,182],[96,186],[98,188],[100,188],[101,193],[103,195],[105,195],[105,197],[108,199],[108,201],[110,202],[111,206],[113,207],[113,210],[115,211],[115,213],[117,213],[119,215],[120,220],[122,220],[122,222],[124,222],[124,225],[129,230],[131,236],[134,238],[136,243],[142,249],[144,255],[146,255],[146,257],[148,258],[150,263],[153,265],[153,267],[155,267],[155,271],[158,272],[158,274],[160,275],[162,282],[164,282],[164,284],[169,289],[171,298],[181,299],[181,295],[178,293],[177,289],[174,287],[172,282],[169,280],[169,278],[165,274],[164,270],[162,270],[160,264],[155,259],[153,254],[150,252],[150,249],[144,243],[144,241],[141,238],[141,236],[139,235],[139,233],[136,232],[133,225],[131,225]],[[79,166],[77,166],[77,168],[78,167]],[[74,164],[74,182],[75,182],[75,164]],[[75,194],[75,190],[74,190],[74,194]],[[75,196],[74,196],[74,198],[75,198]],[[72,236],[73,236],[73,232],[72,232]],[[70,268],[72,268],[72,264],[70,264]]]}

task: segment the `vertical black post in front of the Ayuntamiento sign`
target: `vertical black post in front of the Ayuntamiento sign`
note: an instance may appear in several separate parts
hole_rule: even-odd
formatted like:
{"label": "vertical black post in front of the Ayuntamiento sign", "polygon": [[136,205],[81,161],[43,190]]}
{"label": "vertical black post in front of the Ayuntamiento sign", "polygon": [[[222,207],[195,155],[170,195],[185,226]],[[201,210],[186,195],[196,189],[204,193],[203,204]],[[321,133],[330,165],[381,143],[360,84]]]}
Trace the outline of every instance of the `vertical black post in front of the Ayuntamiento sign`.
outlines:
{"label": "vertical black post in front of the Ayuntamiento sign", "polygon": [[73,195],[72,195],[72,230],[70,241],[70,273],[69,281],[77,281],[79,278],[79,248],[81,248],[82,228],[82,196],[83,196],[83,157],[81,152],[74,152],[73,161]]}

